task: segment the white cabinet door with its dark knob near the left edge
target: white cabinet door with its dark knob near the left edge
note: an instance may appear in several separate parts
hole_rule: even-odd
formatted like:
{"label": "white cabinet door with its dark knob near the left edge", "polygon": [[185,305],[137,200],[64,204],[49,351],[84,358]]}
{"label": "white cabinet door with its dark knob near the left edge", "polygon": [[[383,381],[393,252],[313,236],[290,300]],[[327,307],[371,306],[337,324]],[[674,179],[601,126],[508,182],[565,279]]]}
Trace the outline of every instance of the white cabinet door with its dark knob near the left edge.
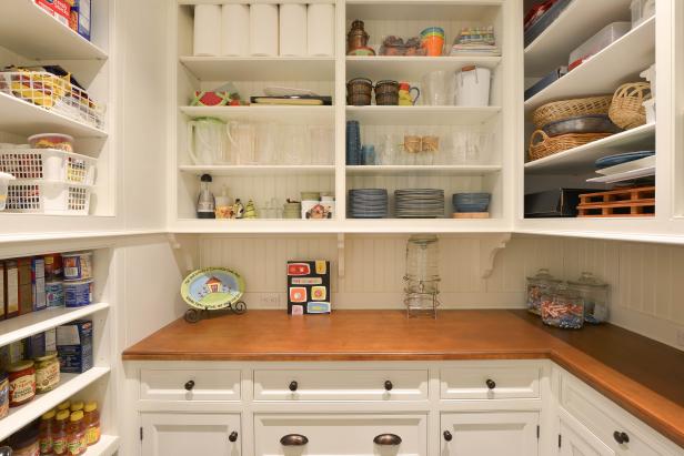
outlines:
{"label": "white cabinet door with its dark knob near the left edge", "polygon": [[537,412],[444,413],[442,456],[536,456]]}

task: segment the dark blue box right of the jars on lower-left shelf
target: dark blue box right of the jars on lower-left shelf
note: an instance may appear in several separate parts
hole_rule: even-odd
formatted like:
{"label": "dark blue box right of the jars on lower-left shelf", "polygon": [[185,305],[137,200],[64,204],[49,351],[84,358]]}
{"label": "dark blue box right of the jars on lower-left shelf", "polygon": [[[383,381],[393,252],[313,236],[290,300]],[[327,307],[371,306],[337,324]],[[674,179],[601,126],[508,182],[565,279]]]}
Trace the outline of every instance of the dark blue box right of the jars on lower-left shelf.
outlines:
{"label": "dark blue box right of the jars on lower-left shelf", "polygon": [[81,374],[92,367],[92,322],[80,320],[57,327],[60,371]]}

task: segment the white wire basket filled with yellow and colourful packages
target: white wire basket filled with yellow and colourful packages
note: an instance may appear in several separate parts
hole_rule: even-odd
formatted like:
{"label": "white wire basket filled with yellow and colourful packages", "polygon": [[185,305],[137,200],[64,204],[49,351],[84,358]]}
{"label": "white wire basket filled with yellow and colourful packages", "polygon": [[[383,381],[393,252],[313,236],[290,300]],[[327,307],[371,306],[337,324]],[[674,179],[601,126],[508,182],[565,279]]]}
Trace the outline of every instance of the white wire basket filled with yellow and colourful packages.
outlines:
{"label": "white wire basket filled with yellow and colourful packages", "polygon": [[69,82],[68,77],[44,71],[4,71],[0,72],[0,92],[99,129],[104,126],[104,107]]}

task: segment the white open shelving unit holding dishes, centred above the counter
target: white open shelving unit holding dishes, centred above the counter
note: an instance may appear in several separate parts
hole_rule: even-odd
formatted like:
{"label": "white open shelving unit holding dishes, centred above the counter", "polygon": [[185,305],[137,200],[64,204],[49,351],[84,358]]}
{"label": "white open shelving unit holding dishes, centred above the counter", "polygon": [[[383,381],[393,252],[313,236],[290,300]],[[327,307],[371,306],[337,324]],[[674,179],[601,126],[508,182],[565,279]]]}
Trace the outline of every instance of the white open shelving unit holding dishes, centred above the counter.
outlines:
{"label": "white open shelving unit holding dishes, centred above the counter", "polygon": [[[169,226],[173,232],[193,233],[345,233],[345,232],[465,232],[472,230],[505,231],[510,225],[506,211],[512,197],[503,191],[510,182],[512,166],[505,156],[502,141],[514,119],[514,99],[504,93],[503,84],[514,69],[513,51],[515,31],[504,27],[504,17],[513,14],[514,6],[501,0],[439,0],[425,8],[420,1],[335,1],[335,55],[316,58],[290,57],[192,57],[193,6],[200,1],[180,1],[172,21],[177,24],[174,61],[170,71],[175,74],[171,97],[177,100],[179,112],[171,121],[175,130],[170,165]],[[464,57],[349,57],[345,55],[346,33],[354,19],[365,21],[371,34],[370,44],[379,47],[382,37],[395,33],[416,36],[428,26],[446,30],[446,43],[463,27],[494,26],[501,55]],[[372,81],[392,79],[421,84],[421,78],[431,71],[456,72],[465,65],[480,65],[492,70],[491,105],[465,108],[454,105],[431,107],[420,101],[414,107],[351,107],[345,103],[346,81],[370,78]],[[211,90],[224,82],[233,82],[241,98],[263,94],[269,85],[290,85],[309,89],[322,95],[332,95],[332,107],[188,107],[194,91]],[[187,152],[187,122],[201,116],[212,116],[225,122],[276,122],[286,125],[329,125],[334,129],[335,163],[332,165],[193,165]],[[345,121],[361,123],[362,136],[388,133],[398,138],[409,134],[430,134],[433,129],[449,134],[454,131],[492,133],[486,158],[471,163],[447,158],[451,139],[442,140],[442,155],[434,165],[406,166],[384,164],[379,166],[348,166],[345,164]],[[362,139],[363,141],[363,139]],[[379,144],[375,143],[379,148]],[[312,151],[315,153],[315,151]],[[214,194],[223,185],[229,196],[241,201],[254,199],[256,206],[278,196],[299,199],[301,191],[334,192],[335,217],[329,221],[292,220],[193,220],[199,189],[199,175],[211,174]],[[375,220],[358,221],[346,217],[346,193],[359,185],[382,185],[391,193],[400,188],[434,185],[445,190],[445,217],[443,220]],[[473,221],[453,220],[451,193],[454,191],[486,191],[494,194],[492,217]],[[489,227],[487,227],[489,226]]]}

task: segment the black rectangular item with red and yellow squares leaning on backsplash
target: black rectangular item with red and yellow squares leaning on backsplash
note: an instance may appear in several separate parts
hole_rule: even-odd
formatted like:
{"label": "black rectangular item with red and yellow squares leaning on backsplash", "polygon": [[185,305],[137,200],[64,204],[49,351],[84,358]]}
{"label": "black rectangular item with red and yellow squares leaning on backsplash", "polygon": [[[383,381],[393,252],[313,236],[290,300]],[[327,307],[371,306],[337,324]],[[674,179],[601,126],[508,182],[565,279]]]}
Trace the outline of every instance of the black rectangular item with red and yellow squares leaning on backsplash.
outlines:
{"label": "black rectangular item with red and yellow squares leaning on backsplash", "polygon": [[290,315],[329,314],[330,262],[288,262],[288,313]]}

